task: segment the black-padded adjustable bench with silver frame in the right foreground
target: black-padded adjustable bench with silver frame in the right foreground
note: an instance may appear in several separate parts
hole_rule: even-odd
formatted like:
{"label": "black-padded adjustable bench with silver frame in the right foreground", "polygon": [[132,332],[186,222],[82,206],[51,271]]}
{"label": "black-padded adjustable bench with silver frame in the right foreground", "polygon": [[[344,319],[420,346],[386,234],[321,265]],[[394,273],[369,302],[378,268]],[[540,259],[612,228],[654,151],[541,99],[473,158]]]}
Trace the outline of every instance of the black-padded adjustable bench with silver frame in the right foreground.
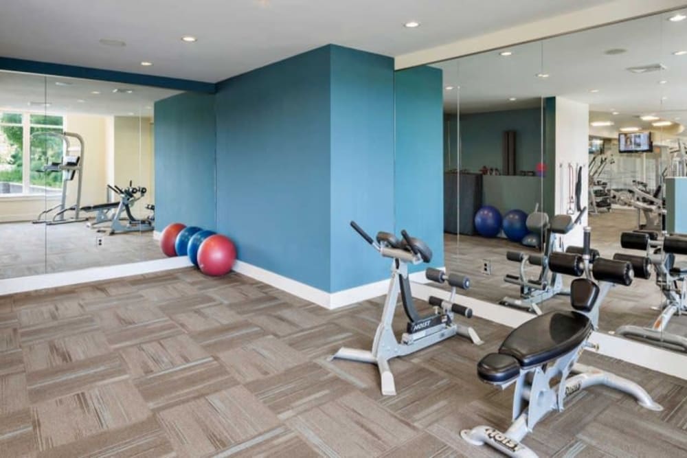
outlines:
{"label": "black-padded adjustable bench with silver frame in the right foreground", "polygon": [[[515,384],[513,423],[505,433],[491,426],[461,431],[460,436],[470,444],[487,444],[510,457],[536,457],[521,440],[548,413],[563,411],[570,396],[594,385],[627,393],[646,409],[663,410],[635,382],[577,363],[587,347],[596,347],[589,337],[598,328],[599,309],[607,293],[616,284],[629,286],[634,277],[630,262],[598,257],[592,265],[589,244],[590,229],[585,227],[582,255],[553,253],[549,260],[553,271],[585,274],[572,282],[573,310],[547,312],[526,321],[508,334],[498,353],[477,363],[477,375],[483,382],[501,389]],[[569,378],[570,374],[576,375]]]}

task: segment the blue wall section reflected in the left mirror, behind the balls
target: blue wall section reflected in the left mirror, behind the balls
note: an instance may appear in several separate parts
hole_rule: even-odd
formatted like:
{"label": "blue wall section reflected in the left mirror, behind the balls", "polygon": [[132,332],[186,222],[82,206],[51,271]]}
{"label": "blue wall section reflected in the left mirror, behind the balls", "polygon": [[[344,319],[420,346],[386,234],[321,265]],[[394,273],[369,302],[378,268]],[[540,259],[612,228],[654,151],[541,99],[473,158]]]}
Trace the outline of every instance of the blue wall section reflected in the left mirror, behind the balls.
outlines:
{"label": "blue wall section reflected in the left mirror, behind the balls", "polygon": [[214,95],[155,102],[155,226],[215,229]]}

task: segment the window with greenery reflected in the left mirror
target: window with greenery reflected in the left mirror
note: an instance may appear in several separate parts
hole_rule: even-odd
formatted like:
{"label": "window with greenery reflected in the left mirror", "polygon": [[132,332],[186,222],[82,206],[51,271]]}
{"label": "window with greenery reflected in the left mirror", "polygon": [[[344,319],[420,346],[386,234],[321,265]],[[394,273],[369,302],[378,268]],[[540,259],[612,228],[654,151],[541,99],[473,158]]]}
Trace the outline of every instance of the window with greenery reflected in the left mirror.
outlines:
{"label": "window with greenery reflected in the left mirror", "polygon": [[61,116],[0,112],[0,194],[43,194],[62,186],[61,173],[37,172],[64,154],[62,139],[41,133],[62,131]]}

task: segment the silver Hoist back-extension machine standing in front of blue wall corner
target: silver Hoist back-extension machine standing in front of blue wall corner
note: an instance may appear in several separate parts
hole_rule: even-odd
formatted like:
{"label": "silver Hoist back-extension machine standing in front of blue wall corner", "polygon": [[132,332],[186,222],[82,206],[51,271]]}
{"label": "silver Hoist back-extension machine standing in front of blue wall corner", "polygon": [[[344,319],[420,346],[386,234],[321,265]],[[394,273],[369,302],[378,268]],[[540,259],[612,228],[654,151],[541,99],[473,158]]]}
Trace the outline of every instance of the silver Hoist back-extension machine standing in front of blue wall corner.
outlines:
{"label": "silver Hoist back-extension machine standing in front of blue wall corner", "polygon": [[[372,350],[342,347],[330,359],[341,358],[376,364],[381,375],[382,394],[391,396],[396,394],[396,384],[394,383],[394,374],[389,367],[390,359],[423,350],[429,345],[449,339],[456,334],[470,339],[476,345],[482,345],[482,340],[473,328],[454,321],[455,314],[466,318],[472,317],[470,308],[453,304],[455,288],[469,288],[470,280],[467,277],[455,274],[447,275],[436,268],[428,268],[425,272],[427,279],[449,284],[451,297],[449,301],[444,301],[438,297],[429,297],[429,304],[434,307],[434,310],[425,316],[420,315],[413,304],[408,279],[408,264],[430,262],[432,253],[429,247],[422,240],[409,236],[406,231],[401,231],[402,240],[398,240],[392,233],[378,232],[375,241],[354,221],[351,221],[350,225],[383,257],[390,257],[393,260],[392,277],[384,302],[381,321],[374,334]],[[399,294],[401,294],[403,310],[405,310],[408,318],[406,332],[401,336],[400,342],[396,341],[392,328]]]}

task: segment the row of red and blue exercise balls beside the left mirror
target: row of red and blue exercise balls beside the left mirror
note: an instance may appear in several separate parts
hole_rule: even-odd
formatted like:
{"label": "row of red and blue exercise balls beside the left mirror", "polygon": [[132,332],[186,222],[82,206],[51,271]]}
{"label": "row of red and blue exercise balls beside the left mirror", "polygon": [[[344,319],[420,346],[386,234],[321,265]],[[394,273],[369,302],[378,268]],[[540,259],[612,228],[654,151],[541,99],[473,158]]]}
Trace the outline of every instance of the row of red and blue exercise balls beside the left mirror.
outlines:
{"label": "row of red and blue exercise balls beside the left mirror", "polygon": [[167,256],[185,256],[205,275],[225,275],[236,261],[236,247],[229,238],[214,231],[174,222],[160,236],[160,248]]}

